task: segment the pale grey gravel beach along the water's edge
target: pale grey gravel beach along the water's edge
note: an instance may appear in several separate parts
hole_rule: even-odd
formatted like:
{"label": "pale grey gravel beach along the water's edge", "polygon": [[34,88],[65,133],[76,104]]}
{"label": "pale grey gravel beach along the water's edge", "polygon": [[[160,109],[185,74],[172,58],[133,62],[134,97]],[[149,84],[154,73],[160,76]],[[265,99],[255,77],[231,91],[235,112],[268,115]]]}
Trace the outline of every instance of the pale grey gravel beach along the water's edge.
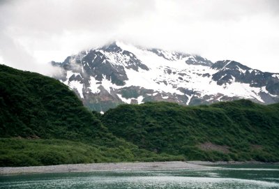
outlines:
{"label": "pale grey gravel beach along the water's edge", "polygon": [[205,169],[212,168],[189,162],[110,162],[69,165],[49,165],[33,167],[0,167],[0,175],[31,174],[50,172],[96,172],[117,170],[154,170],[154,169]]}

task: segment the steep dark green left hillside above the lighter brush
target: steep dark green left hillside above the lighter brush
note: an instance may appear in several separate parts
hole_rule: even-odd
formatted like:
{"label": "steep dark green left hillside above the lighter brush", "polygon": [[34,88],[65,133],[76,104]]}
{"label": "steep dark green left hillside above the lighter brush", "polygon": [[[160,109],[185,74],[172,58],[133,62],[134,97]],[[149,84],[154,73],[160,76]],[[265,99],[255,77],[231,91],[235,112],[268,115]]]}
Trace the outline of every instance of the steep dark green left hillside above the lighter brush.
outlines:
{"label": "steep dark green left hillside above the lighter brush", "polygon": [[105,128],[75,93],[51,77],[1,65],[0,91],[1,137],[91,139],[105,135]]}

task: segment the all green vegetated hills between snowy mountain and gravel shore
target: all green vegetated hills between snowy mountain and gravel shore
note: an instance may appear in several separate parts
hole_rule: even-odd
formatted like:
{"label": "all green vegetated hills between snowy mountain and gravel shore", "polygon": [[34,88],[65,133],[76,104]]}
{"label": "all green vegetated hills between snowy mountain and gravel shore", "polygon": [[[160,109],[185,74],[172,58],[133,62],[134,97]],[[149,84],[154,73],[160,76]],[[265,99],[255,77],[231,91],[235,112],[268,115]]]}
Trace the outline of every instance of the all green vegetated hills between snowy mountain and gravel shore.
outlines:
{"label": "all green vegetated hills between snowy mountain and gravel shore", "polygon": [[279,104],[120,105],[89,112],[68,86],[0,65],[0,166],[279,161]]}

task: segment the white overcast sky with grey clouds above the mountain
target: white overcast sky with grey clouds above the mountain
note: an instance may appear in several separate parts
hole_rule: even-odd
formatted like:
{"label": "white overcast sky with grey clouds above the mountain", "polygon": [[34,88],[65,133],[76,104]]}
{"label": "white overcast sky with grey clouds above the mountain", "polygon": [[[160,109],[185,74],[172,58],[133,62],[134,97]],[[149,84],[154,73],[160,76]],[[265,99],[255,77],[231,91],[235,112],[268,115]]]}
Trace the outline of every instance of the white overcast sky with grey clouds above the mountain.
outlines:
{"label": "white overcast sky with grey clouds above the mountain", "polygon": [[279,73],[278,0],[0,0],[0,63],[49,61],[112,40]]}

